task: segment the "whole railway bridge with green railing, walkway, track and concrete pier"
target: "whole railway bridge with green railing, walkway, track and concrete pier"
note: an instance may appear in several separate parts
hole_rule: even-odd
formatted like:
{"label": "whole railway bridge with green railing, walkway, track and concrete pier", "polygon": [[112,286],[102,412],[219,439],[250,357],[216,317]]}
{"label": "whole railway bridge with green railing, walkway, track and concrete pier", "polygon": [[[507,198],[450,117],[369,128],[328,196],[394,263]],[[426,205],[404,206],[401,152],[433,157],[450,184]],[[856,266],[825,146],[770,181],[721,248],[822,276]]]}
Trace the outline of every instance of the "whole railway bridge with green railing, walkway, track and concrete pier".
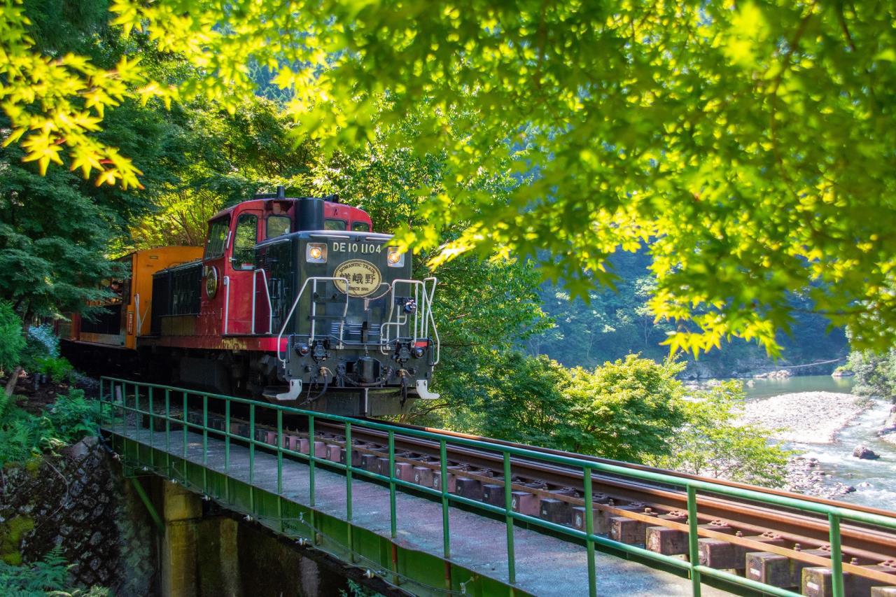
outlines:
{"label": "whole railway bridge with green railing, walkway, track and concrete pier", "polygon": [[99,394],[125,472],[165,480],[164,516],[141,494],[168,594],[202,498],[397,594],[896,595],[887,511],[165,385]]}

